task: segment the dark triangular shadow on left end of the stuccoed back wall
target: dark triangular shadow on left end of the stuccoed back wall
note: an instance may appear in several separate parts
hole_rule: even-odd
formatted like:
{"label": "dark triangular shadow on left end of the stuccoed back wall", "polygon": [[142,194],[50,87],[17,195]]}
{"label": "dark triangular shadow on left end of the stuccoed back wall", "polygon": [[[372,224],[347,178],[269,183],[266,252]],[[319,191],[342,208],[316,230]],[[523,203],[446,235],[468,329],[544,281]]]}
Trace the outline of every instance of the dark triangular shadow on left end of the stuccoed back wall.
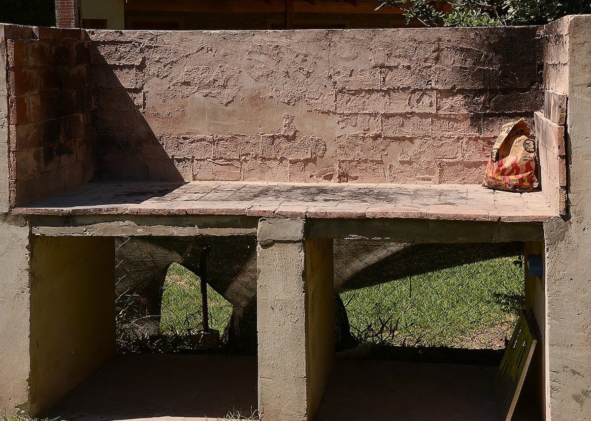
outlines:
{"label": "dark triangular shadow on left end of the stuccoed back wall", "polygon": [[[183,181],[174,158],[166,154],[141,113],[145,108],[142,90],[124,87],[96,45],[92,46],[92,64],[95,179]],[[135,72],[135,66],[119,66],[117,71]]]}

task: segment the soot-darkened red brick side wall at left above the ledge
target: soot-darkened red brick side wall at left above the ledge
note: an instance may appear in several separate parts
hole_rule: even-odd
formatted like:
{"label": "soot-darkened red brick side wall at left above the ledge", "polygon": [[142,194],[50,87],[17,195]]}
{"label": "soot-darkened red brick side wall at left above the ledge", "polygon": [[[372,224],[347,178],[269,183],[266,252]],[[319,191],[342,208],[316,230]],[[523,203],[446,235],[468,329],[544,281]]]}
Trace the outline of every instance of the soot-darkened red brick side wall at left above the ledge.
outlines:
{"label": "soot-darkened red brick side wall at left above the ledge", "polygon": [[86,32],[5,26],[10,201],[18,206],[92,180]]}

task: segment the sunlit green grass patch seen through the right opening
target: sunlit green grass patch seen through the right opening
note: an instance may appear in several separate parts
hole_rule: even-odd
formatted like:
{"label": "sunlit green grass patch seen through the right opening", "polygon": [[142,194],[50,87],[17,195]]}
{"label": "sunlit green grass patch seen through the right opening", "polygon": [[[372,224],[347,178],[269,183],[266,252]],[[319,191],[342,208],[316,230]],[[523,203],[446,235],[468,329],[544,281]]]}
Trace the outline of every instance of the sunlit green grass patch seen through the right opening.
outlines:
{"label": "sunlit green grass patch seen through the right opening", "polygon": [[524,297],[514,262],[486,260],[345,292],[352,333],[372,344],[504,348]]}

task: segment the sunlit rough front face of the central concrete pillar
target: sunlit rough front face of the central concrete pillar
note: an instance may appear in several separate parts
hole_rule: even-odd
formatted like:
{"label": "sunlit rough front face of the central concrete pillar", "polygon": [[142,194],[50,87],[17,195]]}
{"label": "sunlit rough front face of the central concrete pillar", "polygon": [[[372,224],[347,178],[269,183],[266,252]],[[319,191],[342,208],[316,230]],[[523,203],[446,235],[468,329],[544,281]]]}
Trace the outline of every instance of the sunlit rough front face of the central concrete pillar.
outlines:
{"label": "sunlit rough front face of the central concrete pillar", "polygon": [[[301,220],[282,219],[288,232]],[[269,223],[261,220],[261,226]],[[262,229],[277,232],[275,227]],[[271,235],[272,237],[272,235]],[[307,419],[304,241],[261,236],[256,254],[258,407],[263,420]]]}

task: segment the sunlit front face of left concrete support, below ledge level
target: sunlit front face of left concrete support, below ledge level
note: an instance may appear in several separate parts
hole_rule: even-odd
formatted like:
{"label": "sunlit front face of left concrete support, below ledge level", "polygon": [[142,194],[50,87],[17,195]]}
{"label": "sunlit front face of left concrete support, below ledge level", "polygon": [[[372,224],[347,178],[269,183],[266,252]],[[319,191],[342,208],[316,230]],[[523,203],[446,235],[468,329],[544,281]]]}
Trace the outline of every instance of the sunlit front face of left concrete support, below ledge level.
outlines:
{"label": "sunlit front face of left concrete support, below ledge level", "polygon": [[0,412],[11,415],[28,400],[29,229],[2,216],[0,232]]}

